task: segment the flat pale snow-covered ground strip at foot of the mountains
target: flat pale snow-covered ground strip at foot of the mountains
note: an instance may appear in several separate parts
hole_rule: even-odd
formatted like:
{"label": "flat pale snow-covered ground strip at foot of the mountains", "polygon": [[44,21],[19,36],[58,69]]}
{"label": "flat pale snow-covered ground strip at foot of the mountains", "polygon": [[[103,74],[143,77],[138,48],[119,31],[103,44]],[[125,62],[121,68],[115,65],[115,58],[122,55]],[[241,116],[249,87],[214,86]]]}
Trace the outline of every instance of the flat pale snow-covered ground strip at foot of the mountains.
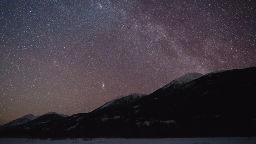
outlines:
{"label": "flat pale snow-covered ground strip at foot of the mountains", "polygon": [[256,137],[239,138],[79,138],[66,140],[0,138],[0,144],[256,144]]}

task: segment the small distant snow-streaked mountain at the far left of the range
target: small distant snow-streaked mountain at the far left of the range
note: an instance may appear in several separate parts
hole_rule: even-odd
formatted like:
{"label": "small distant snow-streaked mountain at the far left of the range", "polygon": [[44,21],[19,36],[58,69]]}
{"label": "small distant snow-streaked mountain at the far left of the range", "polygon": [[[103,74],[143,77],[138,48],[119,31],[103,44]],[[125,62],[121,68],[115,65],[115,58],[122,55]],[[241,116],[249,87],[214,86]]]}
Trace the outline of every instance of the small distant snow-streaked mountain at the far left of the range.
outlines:
{"label": "small distant snow-streaked mountain at the far left of the range", "polygon": [[36,118],[38,118],[39,116],[34,116],[33,114],[28,114],[26,116],[23,116],[21,118],[18,118],[16,120],[13,120],[11,122],[9,122],[8,124],[4,124],[2,126],[2,128],[8,128],[8,127],[13,127],[13,126],[18,126],[20,124],[24,124],[26,122],[29,122],[31,120],[34,120]]}

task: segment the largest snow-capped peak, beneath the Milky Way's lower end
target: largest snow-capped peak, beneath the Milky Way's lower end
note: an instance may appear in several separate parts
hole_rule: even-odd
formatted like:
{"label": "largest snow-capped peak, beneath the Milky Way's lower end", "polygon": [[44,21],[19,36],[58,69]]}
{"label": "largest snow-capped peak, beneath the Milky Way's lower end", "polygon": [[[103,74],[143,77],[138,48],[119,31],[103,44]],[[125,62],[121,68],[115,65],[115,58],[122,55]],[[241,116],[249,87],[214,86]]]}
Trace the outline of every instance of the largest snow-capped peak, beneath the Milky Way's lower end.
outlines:
{"label": "largest snow-capped peak, beneath the Milky Way's lower end", "polygon": [[191,82],[192,80],[200,78],[201,76],[203,76],[203,74],[196,73],[196,72],[185,74],[184,76],[181,76],[180,78],[172,80],[170,83],[166,84],[164,87],[162,87],[162,90],[169,87],[175,88],[176,86],[181,86],[183,84]]}

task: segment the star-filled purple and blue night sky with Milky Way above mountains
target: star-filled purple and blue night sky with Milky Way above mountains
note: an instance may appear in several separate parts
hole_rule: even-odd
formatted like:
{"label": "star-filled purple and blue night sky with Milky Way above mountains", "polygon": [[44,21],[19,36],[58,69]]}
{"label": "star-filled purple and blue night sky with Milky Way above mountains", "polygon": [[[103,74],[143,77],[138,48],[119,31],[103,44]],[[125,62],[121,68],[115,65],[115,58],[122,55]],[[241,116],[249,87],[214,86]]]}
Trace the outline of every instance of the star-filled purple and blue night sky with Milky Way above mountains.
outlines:
{"label": "star-filled purple and blue night sky with Milky Way above mountains", "polygon": [[254,65],[255,0],[0,1],[0,124]]}

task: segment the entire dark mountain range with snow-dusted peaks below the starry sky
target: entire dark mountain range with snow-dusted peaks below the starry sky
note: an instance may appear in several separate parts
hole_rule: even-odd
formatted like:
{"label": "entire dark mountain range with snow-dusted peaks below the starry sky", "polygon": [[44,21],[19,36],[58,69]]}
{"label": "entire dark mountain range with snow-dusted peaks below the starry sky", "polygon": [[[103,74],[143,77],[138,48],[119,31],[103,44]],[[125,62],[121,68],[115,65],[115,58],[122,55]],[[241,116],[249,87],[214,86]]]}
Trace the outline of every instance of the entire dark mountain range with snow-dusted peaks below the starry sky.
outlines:
{"label": "entire dark mountain range with snow-dusted peaks below the starry sky", "polygon": [[26,115],[0,127],[0,137],[255,136],[255,88],[256,67],[185,74],[90,113]]}

